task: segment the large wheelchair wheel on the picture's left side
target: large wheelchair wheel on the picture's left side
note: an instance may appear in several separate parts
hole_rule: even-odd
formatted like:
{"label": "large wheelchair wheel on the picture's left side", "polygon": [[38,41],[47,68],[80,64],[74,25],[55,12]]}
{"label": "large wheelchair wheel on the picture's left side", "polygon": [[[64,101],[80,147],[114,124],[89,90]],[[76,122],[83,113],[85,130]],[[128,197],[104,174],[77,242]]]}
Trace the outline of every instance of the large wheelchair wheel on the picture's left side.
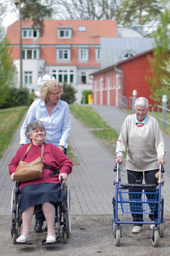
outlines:
{"label": "large wheelchair wheel on the picture's left side", "polygon": [[22,215],[17,202],[17,186],[12,190],[11,197],[11,236],[12,242],[15,244],[16,239],[21,234]]}

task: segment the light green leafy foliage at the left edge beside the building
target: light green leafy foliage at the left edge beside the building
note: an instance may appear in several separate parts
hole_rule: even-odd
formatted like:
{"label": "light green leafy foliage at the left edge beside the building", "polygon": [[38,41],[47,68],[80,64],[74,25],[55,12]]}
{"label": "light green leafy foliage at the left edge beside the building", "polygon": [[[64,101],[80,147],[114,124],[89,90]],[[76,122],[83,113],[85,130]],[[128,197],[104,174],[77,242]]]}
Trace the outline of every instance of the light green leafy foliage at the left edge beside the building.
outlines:
{"label": "light green leafy foliage at the left edge beside the building", "polygon": [[8,41],[6,38],[1,38],[0,41],[0,107],[5,103],[8,93],[8,88],[14,85],[15,67],[13,66],[8,49]]}

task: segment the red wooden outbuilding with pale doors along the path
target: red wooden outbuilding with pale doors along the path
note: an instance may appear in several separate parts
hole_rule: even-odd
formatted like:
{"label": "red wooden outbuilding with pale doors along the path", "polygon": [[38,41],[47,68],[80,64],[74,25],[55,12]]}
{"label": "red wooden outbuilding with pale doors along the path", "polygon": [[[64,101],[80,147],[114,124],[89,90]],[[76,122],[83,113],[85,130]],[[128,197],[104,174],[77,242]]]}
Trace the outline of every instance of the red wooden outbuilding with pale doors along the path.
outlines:
{"label": "red wooden outbuilding with pale doors along the path", "polygon": [[146,75],[151,69],[148,55],[153,57],[153,50],[92,73],[93,103],[117,107],[122,107],[122,103],[126,103],[129,107],[133,90],[136,90],[137,98],[148,98],[149,105],[154,105],[150,98],[151,90],[146,82]]}

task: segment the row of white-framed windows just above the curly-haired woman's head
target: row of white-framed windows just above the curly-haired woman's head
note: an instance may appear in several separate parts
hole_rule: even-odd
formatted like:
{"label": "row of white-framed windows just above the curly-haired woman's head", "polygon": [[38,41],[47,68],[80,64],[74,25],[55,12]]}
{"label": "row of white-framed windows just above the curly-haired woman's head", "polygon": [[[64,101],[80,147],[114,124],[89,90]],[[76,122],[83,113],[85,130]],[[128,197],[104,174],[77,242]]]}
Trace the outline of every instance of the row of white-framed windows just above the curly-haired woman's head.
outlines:
{"label": "row of white-framed windows just above the curly-haired woman's head", "polygon": [[74,70],[52,70],[53,77],[60,83],[71,84],[74,82]]}

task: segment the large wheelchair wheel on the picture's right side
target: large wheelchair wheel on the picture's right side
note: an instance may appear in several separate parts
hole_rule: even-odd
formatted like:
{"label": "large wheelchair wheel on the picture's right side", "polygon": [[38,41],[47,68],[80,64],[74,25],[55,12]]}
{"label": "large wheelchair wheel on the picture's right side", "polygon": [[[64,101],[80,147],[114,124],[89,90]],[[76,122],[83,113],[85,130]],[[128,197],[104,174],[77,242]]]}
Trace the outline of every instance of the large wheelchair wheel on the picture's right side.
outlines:
{"label": "large wheelchair wheel on the picture's right side", "polygon": [[62,233],[63,233],[64,243],[67,243],[67,238],[69,238],[69,235],[71,234],[71,207],[70,207],[69,186],[67,186],[66,183],[63,184],[63,190],[67,195],[67,199],[65,199],[65,202],[64,202],[64,212],[63,212],[64,227],[62,229]]}

